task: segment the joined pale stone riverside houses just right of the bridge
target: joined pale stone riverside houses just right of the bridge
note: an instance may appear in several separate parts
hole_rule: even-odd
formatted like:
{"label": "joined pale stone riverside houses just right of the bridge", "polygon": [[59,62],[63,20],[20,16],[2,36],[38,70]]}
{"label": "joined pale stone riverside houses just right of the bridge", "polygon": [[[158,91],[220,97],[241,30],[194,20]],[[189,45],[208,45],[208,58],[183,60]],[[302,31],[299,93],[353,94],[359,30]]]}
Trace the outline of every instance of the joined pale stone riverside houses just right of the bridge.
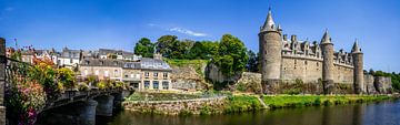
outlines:
{"label": "joined pale stone riverside houses just right of the bridge", "polygon": [[121,81],[139,91],[171,90],[172,69],[159,55],[154,56],[154,59],[141,58],[137,61],[83,59],[79,71],[82,77],[94,75],[99,80]]}

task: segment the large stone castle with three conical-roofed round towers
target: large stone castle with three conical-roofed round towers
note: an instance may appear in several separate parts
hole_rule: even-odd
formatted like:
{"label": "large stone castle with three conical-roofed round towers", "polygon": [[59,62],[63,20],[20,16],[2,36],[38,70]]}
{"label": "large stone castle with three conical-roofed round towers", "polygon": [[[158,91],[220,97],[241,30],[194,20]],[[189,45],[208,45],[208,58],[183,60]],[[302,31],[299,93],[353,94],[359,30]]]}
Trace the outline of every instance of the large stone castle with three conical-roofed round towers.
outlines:
{"label": "large stone castle with three conical-roofed round towers", "polygon": [[288,40],[269,10],[267,20],[260,28],[259,45],[264,93],[277,93],[280,84],[296,80],[322,83],[324,94],[334,93],[334,84],[348,84],[356,94],[364,91],[363,53],[357,40],[351,52],[336,52],[328,30],[320,43],[301,41],[297,35],[291,35]]}

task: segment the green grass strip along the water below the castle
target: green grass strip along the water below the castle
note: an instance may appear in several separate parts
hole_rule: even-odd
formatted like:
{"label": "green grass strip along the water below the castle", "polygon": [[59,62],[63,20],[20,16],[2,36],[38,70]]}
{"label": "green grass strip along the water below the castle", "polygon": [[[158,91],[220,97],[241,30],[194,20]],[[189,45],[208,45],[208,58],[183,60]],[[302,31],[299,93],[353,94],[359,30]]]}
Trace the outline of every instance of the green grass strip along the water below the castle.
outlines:
{"label": "green grass strip along the water below the castle", "polygon": [[339,105],[371,101],[389,100],[387,95],[276,95],[263,96],[263,102],[271,108],[298,107],[312,105]]}

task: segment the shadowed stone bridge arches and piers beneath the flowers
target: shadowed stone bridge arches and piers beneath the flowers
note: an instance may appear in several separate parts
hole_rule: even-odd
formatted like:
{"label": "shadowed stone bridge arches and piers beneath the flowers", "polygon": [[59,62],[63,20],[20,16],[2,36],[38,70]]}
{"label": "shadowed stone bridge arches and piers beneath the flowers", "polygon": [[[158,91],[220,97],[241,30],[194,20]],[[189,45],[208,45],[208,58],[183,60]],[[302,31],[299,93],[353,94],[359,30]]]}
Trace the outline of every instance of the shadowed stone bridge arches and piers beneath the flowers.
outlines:
{"label": "shadowed stone bridge arches and piers beneath the flowers", "polygon": [[112,116],[130,92],[122,90],[68,91],[47,102],[38,122],[50,125],[94,125],[96,116]]}

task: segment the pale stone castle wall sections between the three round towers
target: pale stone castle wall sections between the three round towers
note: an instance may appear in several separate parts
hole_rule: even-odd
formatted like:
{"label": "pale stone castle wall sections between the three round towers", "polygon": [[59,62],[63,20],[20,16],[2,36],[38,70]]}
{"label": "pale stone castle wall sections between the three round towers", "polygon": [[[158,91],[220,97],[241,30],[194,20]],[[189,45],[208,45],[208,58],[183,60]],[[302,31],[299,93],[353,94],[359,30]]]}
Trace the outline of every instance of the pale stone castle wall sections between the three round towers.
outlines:
{"label": "pale stone castle wall sections between the three round towers", "polygon": [[[299,79],[304,83],[317,83],[322,79],[322,59],[303,56],[282,56],[281,80],[293,82]],[[352,84],[353,66],[334,63],[334,83]]]}

